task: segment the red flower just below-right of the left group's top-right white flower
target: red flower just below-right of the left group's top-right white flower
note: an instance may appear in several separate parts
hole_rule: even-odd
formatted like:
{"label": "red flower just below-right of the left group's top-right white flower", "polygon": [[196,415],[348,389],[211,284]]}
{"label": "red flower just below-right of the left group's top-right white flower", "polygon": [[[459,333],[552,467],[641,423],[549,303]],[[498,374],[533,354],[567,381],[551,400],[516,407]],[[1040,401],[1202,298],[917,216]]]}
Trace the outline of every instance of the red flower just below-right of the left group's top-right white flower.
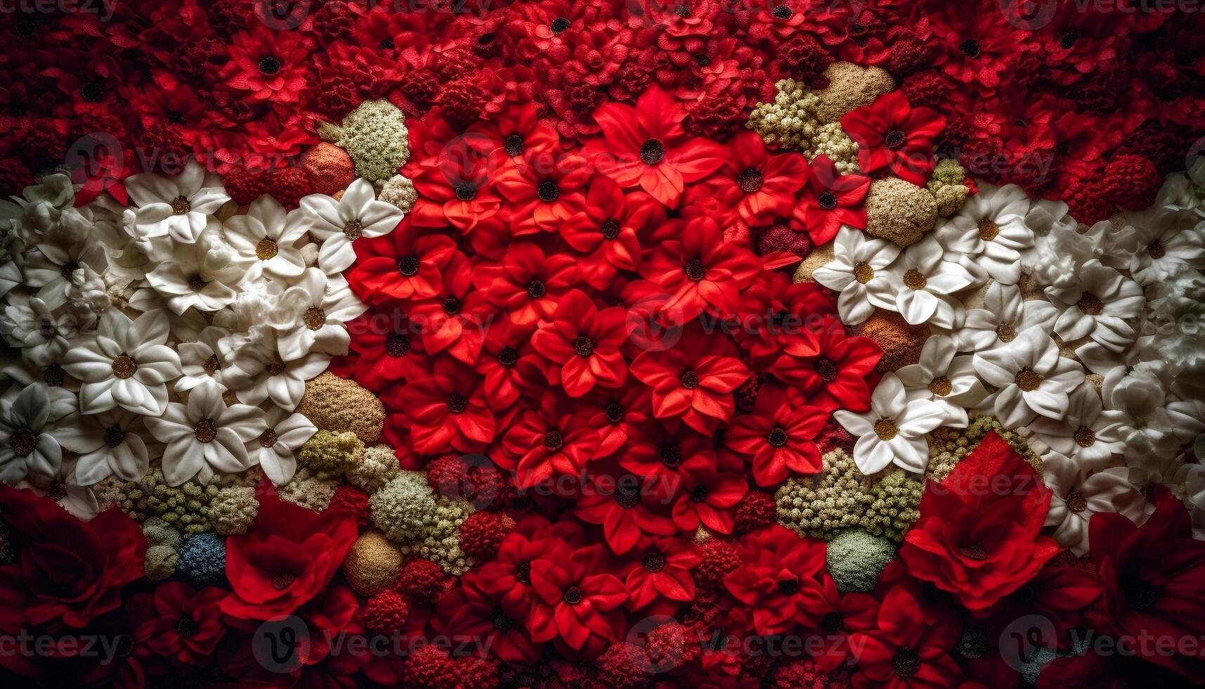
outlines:
{"label": "red flower just below-right of the left group's top-right white flower", "polygon": [[463,261],[452,261],[457,253],[452,238],[422,233],[410,222],[383,237],[355,241],[352,249],[355,265],[347,284],[369,304],[434,297],[443,288],[445,273],[466,268]]}

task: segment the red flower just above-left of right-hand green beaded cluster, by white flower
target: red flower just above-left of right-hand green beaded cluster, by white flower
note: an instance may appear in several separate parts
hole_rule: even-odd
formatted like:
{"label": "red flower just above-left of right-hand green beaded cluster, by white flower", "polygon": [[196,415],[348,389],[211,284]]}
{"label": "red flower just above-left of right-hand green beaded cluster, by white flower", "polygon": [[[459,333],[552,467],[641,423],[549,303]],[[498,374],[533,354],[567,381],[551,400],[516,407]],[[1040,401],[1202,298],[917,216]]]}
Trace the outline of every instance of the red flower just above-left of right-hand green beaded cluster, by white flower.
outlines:
{"label": "red flower just above-left of right-hand green beaded cluster, by white flower", "polygon": [[792,472],[815,474],[823,468],[816,436],[828,418],[828,410],[800,404],[782,387],[763,385],[753,413],[733,419],[724,444],[751,459],[758,485],[777,485]]}

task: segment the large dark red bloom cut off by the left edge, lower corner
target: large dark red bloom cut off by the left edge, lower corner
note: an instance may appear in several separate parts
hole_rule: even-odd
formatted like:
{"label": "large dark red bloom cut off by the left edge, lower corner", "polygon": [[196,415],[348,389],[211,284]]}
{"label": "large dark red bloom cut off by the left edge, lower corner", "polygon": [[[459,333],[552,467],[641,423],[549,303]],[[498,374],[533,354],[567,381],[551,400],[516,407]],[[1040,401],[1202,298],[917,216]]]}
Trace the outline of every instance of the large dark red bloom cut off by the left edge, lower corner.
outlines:
{"label": "large dark red bloom cut off by the left edge, lower corner", "polygon": [[146,539],[117,509],[80,521],[57,502],[0,485],[0,512],[17,553],[0,566],[0,630],[49,623],[81,627],[122,605],[120,589],[142,578]]}

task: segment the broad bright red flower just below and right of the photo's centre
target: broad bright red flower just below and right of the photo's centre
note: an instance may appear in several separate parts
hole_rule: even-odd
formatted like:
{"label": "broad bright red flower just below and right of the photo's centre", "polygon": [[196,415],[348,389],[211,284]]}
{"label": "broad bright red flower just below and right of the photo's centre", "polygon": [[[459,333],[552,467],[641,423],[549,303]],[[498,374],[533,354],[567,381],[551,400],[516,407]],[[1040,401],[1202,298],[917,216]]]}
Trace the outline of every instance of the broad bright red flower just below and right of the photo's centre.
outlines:
{"label": "broad bright red flower just below and right of the photo's centre", "polygon": [[705,333],[695,322],[675,346],[641,352],[631,374],[653,389],[653,416],[712,433],[733,418],[733,391],[751,375],[737,354],[727,335]]}

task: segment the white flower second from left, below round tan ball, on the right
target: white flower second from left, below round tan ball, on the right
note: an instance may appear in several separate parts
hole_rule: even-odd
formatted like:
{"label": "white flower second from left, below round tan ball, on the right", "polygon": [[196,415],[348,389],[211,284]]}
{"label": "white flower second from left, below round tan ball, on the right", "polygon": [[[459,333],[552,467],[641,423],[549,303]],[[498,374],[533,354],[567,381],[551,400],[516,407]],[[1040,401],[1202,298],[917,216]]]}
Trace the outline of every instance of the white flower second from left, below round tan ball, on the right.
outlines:
{"label": "white flower second from left, below round tan ball, on the right", "polygon": [[936,239],[925,237],[905,249],[887,269],[893,310],[913,326],[930,322],[940,328],[956,327],[963,305],[951,294],[986,280],[986,275],[972,275],[963,263],[946,261],[945,253]]}

